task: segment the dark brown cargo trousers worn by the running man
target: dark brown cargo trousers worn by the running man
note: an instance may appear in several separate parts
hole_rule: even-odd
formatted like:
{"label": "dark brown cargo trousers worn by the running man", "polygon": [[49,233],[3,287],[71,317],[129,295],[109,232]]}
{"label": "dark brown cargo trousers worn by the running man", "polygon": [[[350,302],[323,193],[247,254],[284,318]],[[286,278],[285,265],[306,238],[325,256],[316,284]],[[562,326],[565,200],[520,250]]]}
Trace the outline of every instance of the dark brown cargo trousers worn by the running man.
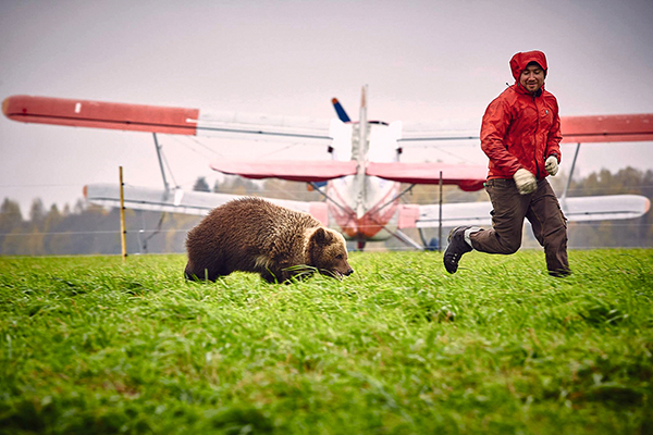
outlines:
{"label": "dark brown cargo trousers worn by the running man", "polygon": [[470,234],[473,249],[488,253],[514,253],[521,246],[523,219],[544,247],[546,269],[552,275],[569,274],[567,260],[567,219],[549,182],[538,181],[532,194],[519,195],[510,179],[489,179],[485,191],[492,201],[492,228]]}

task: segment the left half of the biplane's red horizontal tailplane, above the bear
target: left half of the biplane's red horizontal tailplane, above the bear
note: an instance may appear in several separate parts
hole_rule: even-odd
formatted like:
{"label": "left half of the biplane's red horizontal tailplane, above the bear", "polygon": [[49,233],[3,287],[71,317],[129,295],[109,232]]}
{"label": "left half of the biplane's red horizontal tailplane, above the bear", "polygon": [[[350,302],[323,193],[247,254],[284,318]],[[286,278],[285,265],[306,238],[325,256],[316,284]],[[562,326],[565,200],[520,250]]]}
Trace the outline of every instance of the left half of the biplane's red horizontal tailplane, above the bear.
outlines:
{"label": "left half of the biplane's red horizontal tailplane, above the bear", "polygon": [[246,160],[221,160],[211,167],[224,174],[241,175],[246,178],[281,178],[289,182],[325,182],[345,175],[356,174],[356,162],[335,160],[279,160],[254,162]]}

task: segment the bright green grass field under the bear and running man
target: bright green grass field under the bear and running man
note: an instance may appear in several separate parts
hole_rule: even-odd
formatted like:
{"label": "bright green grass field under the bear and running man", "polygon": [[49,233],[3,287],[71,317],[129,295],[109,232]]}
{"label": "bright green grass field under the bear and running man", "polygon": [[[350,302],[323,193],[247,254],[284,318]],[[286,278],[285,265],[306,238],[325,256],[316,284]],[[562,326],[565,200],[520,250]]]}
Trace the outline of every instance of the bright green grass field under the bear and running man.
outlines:
{"label": "bright green grass field under the bear and running man", "polygon": [[207,285],[184,256],[0,258],[0,432],[653,433],[653,250],[569,259]]}

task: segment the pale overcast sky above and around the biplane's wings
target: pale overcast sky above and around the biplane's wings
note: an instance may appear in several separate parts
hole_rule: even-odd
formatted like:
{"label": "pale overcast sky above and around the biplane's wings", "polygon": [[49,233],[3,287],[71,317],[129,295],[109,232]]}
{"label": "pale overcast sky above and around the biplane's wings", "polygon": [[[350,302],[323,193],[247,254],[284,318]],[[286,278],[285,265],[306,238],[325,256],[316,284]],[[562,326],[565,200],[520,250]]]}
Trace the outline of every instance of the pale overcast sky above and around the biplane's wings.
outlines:
{"label": "pale overcast sky above and around the biplane's wings", "polygon": [[[0,2],[0,99],[35,95],[334,117],[451,122],[478,130],[513,83],[508,61],[539,49],[560,114],[653,113],[653,2],[70,1]],[[198,139],[197,139],[198,140]],[[323,156],[299,144],[162,135],[176,184],[210,184],[220,157]],[[311,148],[312,147],[312,148]],[[284,154],[285,153],[285,154]],[[563,147],[562,171],[574,146]],[[325,156],[324,156],[325,157]],[[478,144],[408,160],[485,163]],[[565,166],[567,164],[567,167]],[[0,200],[71,206],[89,183],[162,186],[152,137],[0,119]],[[653,169],[653,144],[584,145],[580,175]]]}

